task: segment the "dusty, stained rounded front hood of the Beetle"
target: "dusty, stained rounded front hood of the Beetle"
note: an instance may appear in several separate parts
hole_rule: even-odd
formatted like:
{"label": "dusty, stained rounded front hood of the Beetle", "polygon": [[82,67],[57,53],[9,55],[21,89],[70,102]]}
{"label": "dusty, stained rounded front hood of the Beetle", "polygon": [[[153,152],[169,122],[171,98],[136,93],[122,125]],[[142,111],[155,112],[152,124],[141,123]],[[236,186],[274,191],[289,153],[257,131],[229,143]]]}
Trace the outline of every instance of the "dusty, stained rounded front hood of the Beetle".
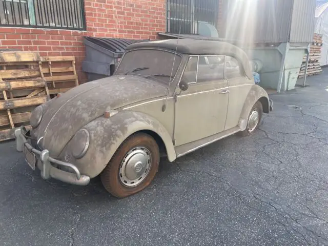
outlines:
{"label": "dusty, stained rounded front hood of the Beetle", "polygon": [[79,85],[45,105],[36,137],[43,137],[41,146],[57,156],[79,129],[106,109],[165,96],[166,89],[138,75],[115,75]]}

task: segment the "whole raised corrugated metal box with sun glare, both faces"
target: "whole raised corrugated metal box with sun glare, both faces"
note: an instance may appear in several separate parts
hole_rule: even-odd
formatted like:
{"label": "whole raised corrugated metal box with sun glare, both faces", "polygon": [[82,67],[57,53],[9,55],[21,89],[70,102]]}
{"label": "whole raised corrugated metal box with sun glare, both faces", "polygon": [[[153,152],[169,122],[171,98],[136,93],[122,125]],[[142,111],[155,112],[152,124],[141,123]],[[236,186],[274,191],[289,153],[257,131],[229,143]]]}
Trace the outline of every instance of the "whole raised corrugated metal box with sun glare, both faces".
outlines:
{"label": "whole raised corrugated metal box with sun glare, both faces", "polygon": [[311,42],[316,0],[226,1],[226,30],[220,37],[245,43],[285,43],[290,37],[291,42]]}

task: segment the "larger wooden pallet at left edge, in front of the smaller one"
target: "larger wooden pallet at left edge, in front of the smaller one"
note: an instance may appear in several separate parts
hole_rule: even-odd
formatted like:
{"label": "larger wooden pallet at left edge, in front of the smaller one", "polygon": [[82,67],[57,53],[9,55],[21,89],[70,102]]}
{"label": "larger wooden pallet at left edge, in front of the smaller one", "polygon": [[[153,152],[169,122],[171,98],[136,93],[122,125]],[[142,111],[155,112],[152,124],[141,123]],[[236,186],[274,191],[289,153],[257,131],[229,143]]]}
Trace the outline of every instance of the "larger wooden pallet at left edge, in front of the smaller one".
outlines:
{"label": "larger wooden pallet at left edge, in front of the smaller one", "polygon": [[33,52],[0,52],[0,141],[13,138],[16,127],[29,127],[33,109],[50,98],[41,60]]}

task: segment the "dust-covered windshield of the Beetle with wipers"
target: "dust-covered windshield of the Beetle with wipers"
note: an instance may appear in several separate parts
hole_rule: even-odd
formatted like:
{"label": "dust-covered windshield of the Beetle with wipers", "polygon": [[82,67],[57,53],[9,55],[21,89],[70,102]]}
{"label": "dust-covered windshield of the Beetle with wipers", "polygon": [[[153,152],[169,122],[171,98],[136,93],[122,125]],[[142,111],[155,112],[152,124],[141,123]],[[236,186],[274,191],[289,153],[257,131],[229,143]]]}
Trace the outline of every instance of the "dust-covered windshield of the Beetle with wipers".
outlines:
{"label": "dust-covered windshield of the Beetle with wipers", "polygon": [[181,63],[181,56],[162,50],[134,50],[127,52],[122,58],[116,74],[139,74],[165,83],[175,76]]}

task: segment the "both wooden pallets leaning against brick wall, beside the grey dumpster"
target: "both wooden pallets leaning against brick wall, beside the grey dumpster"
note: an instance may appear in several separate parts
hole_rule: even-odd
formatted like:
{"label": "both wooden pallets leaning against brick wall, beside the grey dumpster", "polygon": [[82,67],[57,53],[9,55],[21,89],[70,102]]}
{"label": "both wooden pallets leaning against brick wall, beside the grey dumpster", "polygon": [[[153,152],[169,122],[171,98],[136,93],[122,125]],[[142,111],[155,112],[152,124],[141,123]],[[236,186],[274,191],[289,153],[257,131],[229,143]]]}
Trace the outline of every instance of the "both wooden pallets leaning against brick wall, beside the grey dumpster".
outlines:
{"label": "both wooden pallets leaning against brick wall, beside the grey dumpster", "polygon": [[0,52],[0,141],[29,126],[31,112],[57,93],[77,86],[74,57]]}

